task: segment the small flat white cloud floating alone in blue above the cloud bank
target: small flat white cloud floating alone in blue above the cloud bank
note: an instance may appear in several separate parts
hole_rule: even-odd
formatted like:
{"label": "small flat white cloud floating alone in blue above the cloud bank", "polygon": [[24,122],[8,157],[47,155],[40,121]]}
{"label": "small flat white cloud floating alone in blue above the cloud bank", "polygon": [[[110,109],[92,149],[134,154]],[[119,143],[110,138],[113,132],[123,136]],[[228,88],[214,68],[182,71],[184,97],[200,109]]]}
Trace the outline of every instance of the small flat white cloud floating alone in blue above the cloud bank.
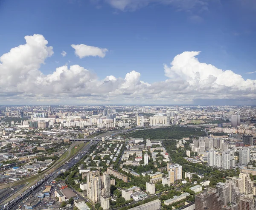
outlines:
{"label": "small flat white cloud floating alone in blue above the cloud bank", "polygon": [[75,54],[79,58],[87,57],[87,56],[99,56],[99,57],[105,57],[106,52],[108,52],[108,49],[106,48],[98,48],[93,47],[89,45],[71,45],[75,49]]}

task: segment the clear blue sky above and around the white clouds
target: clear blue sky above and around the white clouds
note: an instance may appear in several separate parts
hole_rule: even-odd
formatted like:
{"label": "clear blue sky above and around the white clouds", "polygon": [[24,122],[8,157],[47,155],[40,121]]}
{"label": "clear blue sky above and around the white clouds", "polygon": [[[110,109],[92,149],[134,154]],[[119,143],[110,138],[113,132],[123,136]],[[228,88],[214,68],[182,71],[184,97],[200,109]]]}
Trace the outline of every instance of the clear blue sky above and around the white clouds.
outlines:
{"label": "clear blue sky above and around the white clouds", "polygon": [[[152,85],[170,78],[166,76],[163,64],[171,67],[170,62],[184,51],[201,51],[196,56],[200,63],[214,65],[223,71],[231,70],[241,75],[244,81],[256,79],[256,73],[247,74],[256,71],[254,0],[0,0],[0,20],[4,20],[1,22],[0,56],[11,48],[25,45],[24,37],[27,35],[41,34],[48,41],[47,46],[53,47],[54,54],[45,58],[44,64],[38,68],[44,75],[52,74],[65,64],[68,67],[76,64],[97,75],[98,80],[109,75],[125,78],[127,73],[135,71],[140,73],[141,81]],[[79,58],[70,46],[72,44],[107,48],[108,52],[105,57]],[[61,55],[62,51],[67,52],[65,57]],[[179,76],[184,78],[187,75]],[[116,87],[119,89],[118,85]],[[249,88],[253,92],[255,83],[250,82]],[[95,92],[79,96],[90,97]],[[14,99],[23,102],[23,94],[41,99],[46,95],[19,89],[6,91],[2,99],[10,103]],[[160,99],[157,94],[155,99]],[[184,101],[185,96],[180,97],[180,92],[178,94],[177,98],[181,99],[179,103],[191,103],[193,100]],[[203,95],[200,92],[195,94],[195,98],[204,99]],[[236,99],[232,96],[234,93],[228,95],[230,99]],[[254,99],[254,96],[249,96],[250,93],[247,95]],[[168,102],[175,102],[172,100],[175,95],[169,96]],[[86,102],[84,98],[68,97],[72,98],[73,103]],[[118,102],[118,94],[108,97],[107,101],[102,102]],[[145,97],[145,100],[150,98],[145,94],[131,98],[136,102],[138,97]],[[53,98],[56,99],[55,96]],[[44,102],[28,99],[31,103]],[[63,102],[63,98],[47,100]],[[101,99],[94,97],[89,101],[99,102]]]}

